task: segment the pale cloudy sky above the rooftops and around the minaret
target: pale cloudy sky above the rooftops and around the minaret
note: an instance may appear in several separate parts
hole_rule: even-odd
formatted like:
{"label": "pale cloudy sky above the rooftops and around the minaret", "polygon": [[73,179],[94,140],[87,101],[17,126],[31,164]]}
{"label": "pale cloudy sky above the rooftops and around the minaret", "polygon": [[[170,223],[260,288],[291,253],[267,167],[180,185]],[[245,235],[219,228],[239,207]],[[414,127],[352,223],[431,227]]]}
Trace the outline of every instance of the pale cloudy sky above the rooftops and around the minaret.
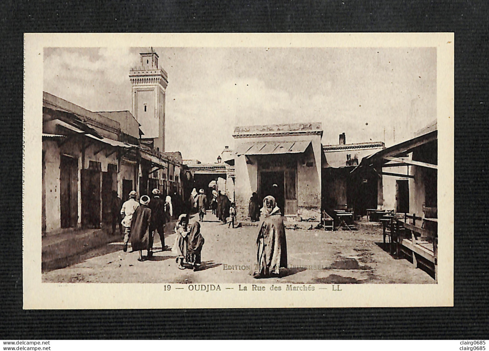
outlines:
{"label": "pale cloudy sky above the rooftops and around the minaret", "polygon": [[[321,122],[322,143],[409,139],[436,119],[435,48],[154,47],[168,73],[166,151],[215,162],[236,125]],[[45,48],[44,91],[91,111],[131,110],[149,48]]]}

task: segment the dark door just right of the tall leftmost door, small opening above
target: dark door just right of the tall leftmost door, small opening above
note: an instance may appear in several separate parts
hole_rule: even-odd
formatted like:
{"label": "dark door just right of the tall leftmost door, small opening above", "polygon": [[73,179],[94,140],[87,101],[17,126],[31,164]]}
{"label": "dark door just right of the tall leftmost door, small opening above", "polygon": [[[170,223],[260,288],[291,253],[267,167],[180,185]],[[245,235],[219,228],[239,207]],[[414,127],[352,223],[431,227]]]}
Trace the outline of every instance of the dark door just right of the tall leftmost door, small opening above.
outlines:
{"label": "dark door just right of the tall leftmost door, small opening above", "polygon": [[93,161],[81,170],[82,226],[86,228],[100,228],[100,171],[100,162]]}

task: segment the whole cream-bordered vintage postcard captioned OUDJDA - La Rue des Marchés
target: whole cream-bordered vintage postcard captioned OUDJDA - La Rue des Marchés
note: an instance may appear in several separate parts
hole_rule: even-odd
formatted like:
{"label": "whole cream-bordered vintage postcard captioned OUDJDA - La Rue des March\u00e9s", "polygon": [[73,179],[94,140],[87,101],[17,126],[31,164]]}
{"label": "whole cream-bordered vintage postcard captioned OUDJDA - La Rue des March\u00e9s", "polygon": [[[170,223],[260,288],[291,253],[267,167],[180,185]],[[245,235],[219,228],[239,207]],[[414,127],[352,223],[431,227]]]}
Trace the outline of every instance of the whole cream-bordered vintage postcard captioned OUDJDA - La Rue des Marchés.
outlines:
{"label": "whole cream-bordered vintage postcard captioned OUDJDA - La Rue des March\u00e9s", "polygon": [[453,33],[24,43],[24,309],[453,306]]}

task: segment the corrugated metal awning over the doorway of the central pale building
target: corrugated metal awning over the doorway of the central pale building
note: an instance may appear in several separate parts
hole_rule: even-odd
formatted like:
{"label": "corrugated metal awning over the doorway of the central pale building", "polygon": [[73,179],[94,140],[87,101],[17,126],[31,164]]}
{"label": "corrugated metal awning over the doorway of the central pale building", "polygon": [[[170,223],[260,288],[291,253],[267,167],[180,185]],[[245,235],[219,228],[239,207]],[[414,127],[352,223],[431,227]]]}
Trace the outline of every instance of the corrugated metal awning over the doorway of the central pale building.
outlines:
{"label": "corrugated metal awning over the doorway of the central pale building", "polygon": [[238,155],[297,154],[306,151],[310,140],[294,142],[254,142],[238,146]]}

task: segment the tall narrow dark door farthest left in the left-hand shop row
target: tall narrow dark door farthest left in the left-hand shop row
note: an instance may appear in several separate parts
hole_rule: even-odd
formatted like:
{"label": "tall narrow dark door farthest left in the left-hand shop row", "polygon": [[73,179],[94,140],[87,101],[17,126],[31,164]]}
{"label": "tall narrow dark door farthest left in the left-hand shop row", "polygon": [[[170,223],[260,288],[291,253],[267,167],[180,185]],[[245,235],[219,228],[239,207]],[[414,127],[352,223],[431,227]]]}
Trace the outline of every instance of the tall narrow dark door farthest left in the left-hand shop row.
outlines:
{"label": "tall narrow dark door farthest left in the left-hand shop row", "polygon": [[60,159],[61,227],[76,227],[78,222],[78,160],[62,155]]}

